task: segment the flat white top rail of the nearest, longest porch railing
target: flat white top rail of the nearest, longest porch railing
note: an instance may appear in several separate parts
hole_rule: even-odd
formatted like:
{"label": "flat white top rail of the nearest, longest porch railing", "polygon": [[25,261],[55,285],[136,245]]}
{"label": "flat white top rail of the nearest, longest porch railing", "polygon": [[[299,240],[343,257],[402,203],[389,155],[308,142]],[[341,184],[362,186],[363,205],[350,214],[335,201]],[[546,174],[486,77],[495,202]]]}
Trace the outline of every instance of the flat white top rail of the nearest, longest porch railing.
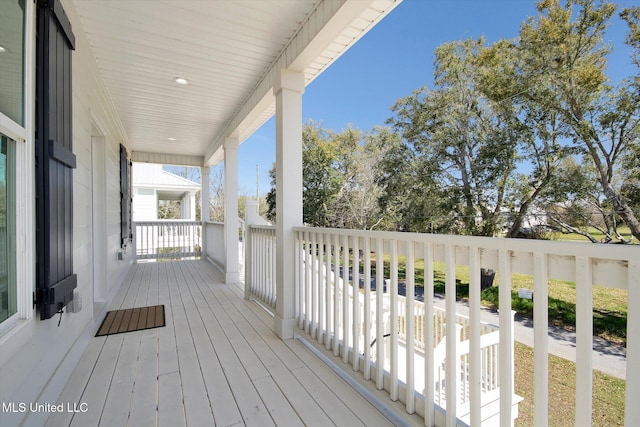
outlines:
{"label": "flat white top rail of the nearest, longest porch railing", "polygon": [[511,250],[545,253],[560,256],[583,256],[598,259],[628,261],[640,259],[640,245],[612,245],[587,242],[558,242],[549,240],[507,239],[496,237],[458,236],[446,234],[405,233],[395,231],[368,231],[339,228],[294,227],[297,232],[314,232],[369,239],[398,240],[436,245],[454,245],[489,250]]}

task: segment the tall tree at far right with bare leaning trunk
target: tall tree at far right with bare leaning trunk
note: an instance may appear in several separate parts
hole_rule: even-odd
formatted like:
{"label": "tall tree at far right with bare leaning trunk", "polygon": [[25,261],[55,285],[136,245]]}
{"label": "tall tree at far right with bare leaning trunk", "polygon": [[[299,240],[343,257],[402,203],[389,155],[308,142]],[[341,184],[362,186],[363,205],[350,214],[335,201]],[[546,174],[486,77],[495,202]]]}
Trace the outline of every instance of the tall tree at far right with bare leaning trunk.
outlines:
{"label": "tall tree at far right with bare leaning trunk", "polygon": [[[604,32],[615,6],[569,0],[563,7],[558,0],[543,0],[538,10],[537,19],[524,23],[519,40],[511,44],[520,60],[505,85],[509,91],[505,95],[557,114],[571,147],[589,159],[615,214],[640,238],[640,222],[616,185],[623,159],[638,144],[640,92],[638,76],[618,87],[607,81],[610,47]],[[630,25],[627,42],[636,49],[636,58],[637,14],[631,10],[623,15]]]}

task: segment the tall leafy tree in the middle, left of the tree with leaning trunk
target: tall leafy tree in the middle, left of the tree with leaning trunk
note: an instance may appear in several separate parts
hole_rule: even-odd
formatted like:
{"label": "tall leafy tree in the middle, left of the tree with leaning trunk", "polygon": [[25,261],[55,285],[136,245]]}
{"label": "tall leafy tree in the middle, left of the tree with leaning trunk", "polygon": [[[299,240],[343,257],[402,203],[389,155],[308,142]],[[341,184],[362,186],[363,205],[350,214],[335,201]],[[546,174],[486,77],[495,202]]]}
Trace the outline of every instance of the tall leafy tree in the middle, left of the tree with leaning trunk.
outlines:
{"label": "tall leafy tree in the middle, left of the tree with leaning trunk", "polygon": [[[436,189],[450,232],[495,235],[522,135],[477,86],[483,39],[445,43],[435,52],[434,88],[401,98],[389,120],[418,168],[417,183]],[[393,154],[397,154],[397,151]],[[405,169],[406,171],[406,169]]]}

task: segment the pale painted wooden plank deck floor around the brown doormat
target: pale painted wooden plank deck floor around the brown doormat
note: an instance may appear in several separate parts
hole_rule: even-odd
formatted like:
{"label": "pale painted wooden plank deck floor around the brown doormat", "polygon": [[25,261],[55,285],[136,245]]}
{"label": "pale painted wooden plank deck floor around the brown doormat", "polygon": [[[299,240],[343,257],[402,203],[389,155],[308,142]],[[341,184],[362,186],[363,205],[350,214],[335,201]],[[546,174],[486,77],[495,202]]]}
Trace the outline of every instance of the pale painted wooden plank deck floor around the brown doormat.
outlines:
{"label": "pale painted wooden plank deck floor around the brown doormat", "polygon": [[111,310],[165,305],[167,326],[93,338],[50,426],[379,426],[390,422],[206,261],[136,264]]}

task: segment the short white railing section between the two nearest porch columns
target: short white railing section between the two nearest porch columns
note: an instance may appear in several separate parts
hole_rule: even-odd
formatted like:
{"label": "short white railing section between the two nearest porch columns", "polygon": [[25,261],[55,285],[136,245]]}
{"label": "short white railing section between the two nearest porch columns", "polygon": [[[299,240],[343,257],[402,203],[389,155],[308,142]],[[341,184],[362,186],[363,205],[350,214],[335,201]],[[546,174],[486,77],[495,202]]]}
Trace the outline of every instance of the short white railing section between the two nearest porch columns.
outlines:
{"label": "short white railing section between the two nearest porch columns", "polygon": [[276,228],[246,225],[245,293],[276,308]]}

